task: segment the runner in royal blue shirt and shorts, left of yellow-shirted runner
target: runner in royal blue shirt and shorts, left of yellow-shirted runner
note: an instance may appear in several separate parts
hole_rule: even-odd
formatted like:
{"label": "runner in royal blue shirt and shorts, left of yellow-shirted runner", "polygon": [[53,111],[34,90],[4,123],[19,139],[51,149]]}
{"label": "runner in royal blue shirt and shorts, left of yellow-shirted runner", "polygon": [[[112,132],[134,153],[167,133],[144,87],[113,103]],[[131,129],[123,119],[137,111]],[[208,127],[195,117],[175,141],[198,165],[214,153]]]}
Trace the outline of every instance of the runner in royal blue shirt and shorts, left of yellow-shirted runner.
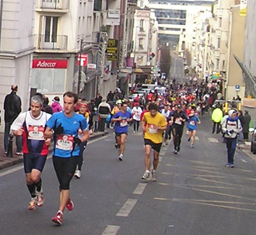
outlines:
{"label": "runner in royal blue shirt and shorts, left of yellow-shirted runner", "polygon": [[132,115],[127,112],[127,103],[122,102],[121,110],[116,112],[111,121],[115,121],[115,134],[116,134],[116,144],[118,146],[118,159],[123,160],[124,150],[125,150],[125,140],[128,134],[128,123],[132,121]]}

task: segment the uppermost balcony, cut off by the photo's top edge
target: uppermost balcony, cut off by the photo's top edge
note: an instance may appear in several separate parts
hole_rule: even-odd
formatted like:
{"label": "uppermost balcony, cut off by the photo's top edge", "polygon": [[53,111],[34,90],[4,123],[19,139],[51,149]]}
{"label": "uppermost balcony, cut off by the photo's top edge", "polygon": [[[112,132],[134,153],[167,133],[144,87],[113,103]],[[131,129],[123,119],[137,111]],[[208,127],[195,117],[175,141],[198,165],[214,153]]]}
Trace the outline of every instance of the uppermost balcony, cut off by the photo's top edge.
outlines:
{"label": "uppermost balcony, cut off by the photo's top edge", "polygon": [[69,11],[70,0],[39,0],[36,11]]}

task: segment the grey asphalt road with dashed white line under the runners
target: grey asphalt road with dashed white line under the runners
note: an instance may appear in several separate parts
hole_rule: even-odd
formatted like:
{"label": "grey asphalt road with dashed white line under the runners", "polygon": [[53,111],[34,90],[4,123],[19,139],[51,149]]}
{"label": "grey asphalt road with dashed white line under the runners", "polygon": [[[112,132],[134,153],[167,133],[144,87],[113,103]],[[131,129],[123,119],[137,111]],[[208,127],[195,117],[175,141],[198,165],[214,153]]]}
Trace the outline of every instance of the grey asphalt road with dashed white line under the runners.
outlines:
{"label": "grey asphalt road with dashed white line under the runners", "polygon": [[180,153],[163,147],[157,182],[143,181],[143,137],[126,142],[118,161],[111,133],[90,141],[82,178],[72,179],[74,210],[61,227],[51,222],[58,209],[58,181],[47,160],[42,174],[45,204],[28,210],[29,193],[22,165],[0,171],[0,234],[88,235],[254,235],[255,161],[237,150],[235,168],[225,167],[226,149],[202,118],[195,148],[184,130]]}

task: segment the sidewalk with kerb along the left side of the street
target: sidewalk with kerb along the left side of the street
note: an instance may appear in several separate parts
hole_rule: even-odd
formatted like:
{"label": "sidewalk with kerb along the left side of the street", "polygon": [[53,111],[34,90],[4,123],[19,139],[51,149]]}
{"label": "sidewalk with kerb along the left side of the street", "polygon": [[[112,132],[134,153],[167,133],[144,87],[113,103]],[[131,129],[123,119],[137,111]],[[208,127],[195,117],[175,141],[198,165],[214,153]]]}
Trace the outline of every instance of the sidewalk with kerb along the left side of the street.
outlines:
{"label": "sidewalk with kerb along the left side of the street", "polygon": [[[90,140],[102,137],[107,134],[108,134],[108,132],[93,133],[90,136]],[[14,141],[13,141],[13,157],[6,156],[4,153],[4,133],[0,133],[0,143],[1,143],[1,146],[0,146],[0,170],[23,162],[23,156],[15,155],[15,152],[16,152],[15,137],[14,137]]]}

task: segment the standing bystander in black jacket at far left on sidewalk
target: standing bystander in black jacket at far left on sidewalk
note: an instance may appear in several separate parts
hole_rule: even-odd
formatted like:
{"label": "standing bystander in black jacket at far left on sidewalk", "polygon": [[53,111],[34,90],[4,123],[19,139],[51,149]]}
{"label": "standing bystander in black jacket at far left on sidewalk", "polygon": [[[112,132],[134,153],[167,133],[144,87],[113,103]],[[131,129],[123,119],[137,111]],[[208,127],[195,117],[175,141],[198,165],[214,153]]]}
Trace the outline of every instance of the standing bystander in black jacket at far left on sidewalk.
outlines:
{"label": "standing bystander in black jacket at far left on sidewalk", "polygon": [[[12,92],[4,98],[4,153],[8,151],[10,127],[21,112],[21,100],[17,95],[18,86],[13,84],[11,89]],[[16,154],[22,155],[22,139],[20,136],[16,137],[16,147]]]}

